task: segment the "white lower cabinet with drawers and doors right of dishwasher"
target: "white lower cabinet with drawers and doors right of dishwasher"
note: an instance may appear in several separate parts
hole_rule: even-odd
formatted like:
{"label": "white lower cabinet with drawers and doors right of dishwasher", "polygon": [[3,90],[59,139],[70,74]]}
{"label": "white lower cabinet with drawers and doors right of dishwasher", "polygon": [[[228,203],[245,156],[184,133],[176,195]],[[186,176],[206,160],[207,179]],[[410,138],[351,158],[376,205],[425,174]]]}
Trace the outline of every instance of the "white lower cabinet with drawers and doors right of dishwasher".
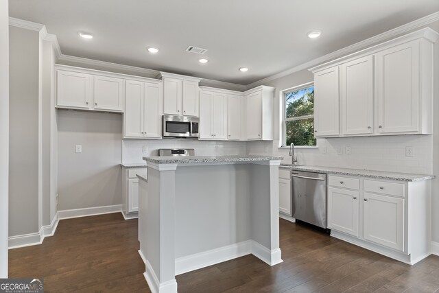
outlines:
{"label": "white lower cabinet with drawers and doors right of dishwasher", "polygon": [[430,180],[328,177],[331,235],[410,264],[430,254]]}

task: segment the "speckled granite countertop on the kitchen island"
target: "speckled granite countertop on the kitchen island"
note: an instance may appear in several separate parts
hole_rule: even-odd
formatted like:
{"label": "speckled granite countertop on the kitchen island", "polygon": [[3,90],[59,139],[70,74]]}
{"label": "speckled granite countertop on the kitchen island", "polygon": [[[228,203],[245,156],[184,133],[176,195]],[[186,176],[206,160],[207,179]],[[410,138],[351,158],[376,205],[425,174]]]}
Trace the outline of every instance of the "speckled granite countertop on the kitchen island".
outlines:
{"label": "speckled granite countertop on the kitchen island", "polygon": [[156,164],[174,163],[233,163],[282,160],[281,156],[144,156],[143,160]]}

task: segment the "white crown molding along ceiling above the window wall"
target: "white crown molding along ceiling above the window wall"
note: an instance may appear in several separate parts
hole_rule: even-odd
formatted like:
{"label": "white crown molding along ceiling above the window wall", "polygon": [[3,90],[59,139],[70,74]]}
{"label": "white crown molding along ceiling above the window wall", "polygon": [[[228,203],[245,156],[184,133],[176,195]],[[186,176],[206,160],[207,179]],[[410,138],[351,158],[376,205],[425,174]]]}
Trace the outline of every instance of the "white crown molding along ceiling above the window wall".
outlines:
{"label": "white crown molding along ceiling above the window wall", "polygon": [[303,63],[302,65],[298,65],[296,67],[293,67],[291,69],[287,69],[285,71],[276,73],[274,75],[270,75],[267,78],[263,78],[262,80],[258,80],[256,82],[252,82],[251,84],[247,85],[247,89],[251,89],[255,86],[259,86],[261,84],[271,82],[272,80],[276,80],[278,78],[283,78],[284,76],[287,76],[289,74],[295,73],[297,71],[308,69],[309,67],[315,67],[316,65],[319,65],[320,63],[327,62],[329,60],[332,60],[334,58],[340,58],[346,54],[352,54],[353,52],[364,49],[370,45],[375,45],[376,43],[382,42],[384,40],[389,40],[390,38],[394,36],[398,36],[399,34],[404,34],[405,32],[410,32],[412,30],[416,30],[420,27],[423,27],[425,25],[429,25],[429,23],[434,23],[435,21],[439,21],[439,11],[434,12],[432,14],[429,14],[427,16],[424,16],[420,19],[416,19],[415,21],[412,21],[410,23],[406,23],[405,25],[401,25],[399,27],[395,27],[392,30],[388,30],[387,32],[383,32],[381,34],[377,34],[377,36],[372,36],[371,38],[367,38],[366,40],[361,40],[358,43],[355,43],[353,45],[350,45],[348,47],[344,47],[340,50],[333,51],[332,53],[329,53],[324,56],[320,56],[319,58],[313,59],[309,62]]}

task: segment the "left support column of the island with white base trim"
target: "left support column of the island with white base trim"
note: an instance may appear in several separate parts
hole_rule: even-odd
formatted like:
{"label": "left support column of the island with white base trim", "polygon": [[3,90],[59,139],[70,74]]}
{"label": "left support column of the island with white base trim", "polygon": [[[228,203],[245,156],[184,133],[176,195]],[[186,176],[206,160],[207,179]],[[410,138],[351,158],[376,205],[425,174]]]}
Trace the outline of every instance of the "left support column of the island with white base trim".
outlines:
{"label": "left support column of the island with white base trim", "polygon": [[[139,253],[152,292],[176,293],[175,173],[177,164],[147,163],[139,180]],[[147,236],[147,237],[146,237]]]}

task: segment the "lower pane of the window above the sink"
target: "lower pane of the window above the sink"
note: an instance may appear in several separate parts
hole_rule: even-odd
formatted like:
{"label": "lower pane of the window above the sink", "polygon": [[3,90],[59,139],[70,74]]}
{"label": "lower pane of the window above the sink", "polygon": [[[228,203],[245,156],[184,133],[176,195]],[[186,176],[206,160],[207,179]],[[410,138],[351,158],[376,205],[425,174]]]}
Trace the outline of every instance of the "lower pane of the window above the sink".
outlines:
{"label": "lower pane of the window above the sink", "polygon": [[301,119],[285,122],[287,128],[287,145],[316,145],[314,138],[314,119]]}

